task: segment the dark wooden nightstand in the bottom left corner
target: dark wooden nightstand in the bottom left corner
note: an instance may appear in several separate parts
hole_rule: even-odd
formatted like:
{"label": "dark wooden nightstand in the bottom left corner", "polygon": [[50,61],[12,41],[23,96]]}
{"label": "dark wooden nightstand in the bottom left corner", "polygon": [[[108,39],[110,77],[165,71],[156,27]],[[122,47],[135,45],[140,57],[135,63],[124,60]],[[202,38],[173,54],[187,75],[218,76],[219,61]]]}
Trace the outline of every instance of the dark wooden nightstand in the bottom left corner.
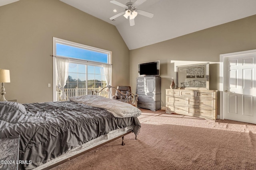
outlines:
{"label": "dark wooden nightstand in the bottom left corner", "polygon": [[20,135],[0,139],[0,169],[18,170]]}

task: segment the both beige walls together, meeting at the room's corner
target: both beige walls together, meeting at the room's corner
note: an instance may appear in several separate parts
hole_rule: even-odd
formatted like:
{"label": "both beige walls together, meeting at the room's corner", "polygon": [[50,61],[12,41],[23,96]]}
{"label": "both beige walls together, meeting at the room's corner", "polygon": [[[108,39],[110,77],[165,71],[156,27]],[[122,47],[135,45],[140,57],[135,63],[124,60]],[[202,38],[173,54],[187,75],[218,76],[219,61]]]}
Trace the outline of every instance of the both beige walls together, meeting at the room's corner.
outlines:
{"label": "both beige walls together, meeting at the room's corner", "polygon": [[256,49],[255,21],[256,15],[129,51],[114,25],[59,0],[20,0],[0,7],[0,68],[11,76],[5,96],[52,101],[52,37],[112,51],[113,86],[130,84],[132,92],[138,63],[160,60],[163,103],[176,79],[170,61],[210,62],[210,89],[218,90],[220,54]]}

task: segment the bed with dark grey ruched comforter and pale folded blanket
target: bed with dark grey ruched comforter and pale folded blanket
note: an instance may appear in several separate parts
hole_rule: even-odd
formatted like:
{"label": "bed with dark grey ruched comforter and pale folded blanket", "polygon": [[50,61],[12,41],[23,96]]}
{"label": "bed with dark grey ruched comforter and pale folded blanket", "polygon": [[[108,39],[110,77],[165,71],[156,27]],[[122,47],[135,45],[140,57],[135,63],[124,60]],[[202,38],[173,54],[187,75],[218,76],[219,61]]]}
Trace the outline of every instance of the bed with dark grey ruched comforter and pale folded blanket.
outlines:
{"label": "bed with dark grey ruched comforter and pale folded blanket", "polygon": [[[107,105],[107,106],[106,106]],[[0,138],[20,135],[20,169],[49,169],[140,130],[141,111],[124,102],[87,95],[69,101],[0,102]]]}

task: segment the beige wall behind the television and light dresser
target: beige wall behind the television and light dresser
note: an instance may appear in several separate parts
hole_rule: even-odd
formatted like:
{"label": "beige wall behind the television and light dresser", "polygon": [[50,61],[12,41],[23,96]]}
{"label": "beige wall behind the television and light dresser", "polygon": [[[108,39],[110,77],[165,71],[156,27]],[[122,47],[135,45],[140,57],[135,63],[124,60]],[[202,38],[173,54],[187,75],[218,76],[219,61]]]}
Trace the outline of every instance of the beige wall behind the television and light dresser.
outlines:
{"label": "beige wall behind the television and light dresser", "polygon": [[220,54],[252,49],[256,49],[256,15],[134,49],[130,51],[130,86],[136,92],[138,63],[160,60],[161,99],[165,106],[165,89],[170,88],[171,77],[176,80],[174,63],[170,61],[200,61],[210,62],[210,89],[219,90]]}

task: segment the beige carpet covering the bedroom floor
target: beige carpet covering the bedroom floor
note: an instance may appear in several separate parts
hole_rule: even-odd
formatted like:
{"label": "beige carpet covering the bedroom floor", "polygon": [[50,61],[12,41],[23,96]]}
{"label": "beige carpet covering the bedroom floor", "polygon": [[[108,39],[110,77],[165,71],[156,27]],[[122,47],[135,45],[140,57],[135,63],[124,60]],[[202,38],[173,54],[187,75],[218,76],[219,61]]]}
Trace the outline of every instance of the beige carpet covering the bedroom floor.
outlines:
{"label": "beige carpet covering the bedroom floor", "polygon": [[142,109],[134,134],[52,170],[255,170],[256,125]]}

